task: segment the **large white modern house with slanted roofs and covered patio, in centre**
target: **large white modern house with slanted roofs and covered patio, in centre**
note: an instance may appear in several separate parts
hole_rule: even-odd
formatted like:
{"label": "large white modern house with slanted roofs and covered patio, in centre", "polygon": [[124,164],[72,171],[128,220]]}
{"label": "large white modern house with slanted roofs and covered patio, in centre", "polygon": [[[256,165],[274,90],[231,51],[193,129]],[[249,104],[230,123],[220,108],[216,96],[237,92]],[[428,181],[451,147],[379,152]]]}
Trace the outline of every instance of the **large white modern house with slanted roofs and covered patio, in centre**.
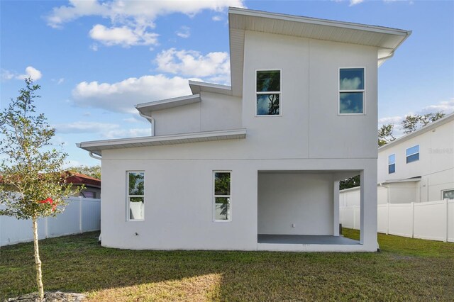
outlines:
{"label": "large white modern house with slanted roofs and covered patio, in centre", "polygon": [[[229,9],[231,86],[136,106],[150,137],[101,156],[106,247],[377,250],[377,67],[409,31]],[[150,96],[151,98],[152,96]],[[360,241],[338,185],[361,175]]]}

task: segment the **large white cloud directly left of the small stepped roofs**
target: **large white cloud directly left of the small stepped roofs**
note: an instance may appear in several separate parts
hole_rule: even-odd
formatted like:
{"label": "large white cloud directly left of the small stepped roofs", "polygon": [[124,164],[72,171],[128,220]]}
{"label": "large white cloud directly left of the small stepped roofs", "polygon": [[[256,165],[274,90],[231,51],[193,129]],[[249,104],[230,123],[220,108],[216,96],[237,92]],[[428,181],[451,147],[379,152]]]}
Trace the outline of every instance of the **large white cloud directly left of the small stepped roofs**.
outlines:
{"label": "large white cloud directly left of the small stepped roofs", "polygon": [[135,104],[191,94],[188,79],[163,74],[129,78],[113,84],[81,82],[72,91],[74,104],[107,111],[136,113]]}

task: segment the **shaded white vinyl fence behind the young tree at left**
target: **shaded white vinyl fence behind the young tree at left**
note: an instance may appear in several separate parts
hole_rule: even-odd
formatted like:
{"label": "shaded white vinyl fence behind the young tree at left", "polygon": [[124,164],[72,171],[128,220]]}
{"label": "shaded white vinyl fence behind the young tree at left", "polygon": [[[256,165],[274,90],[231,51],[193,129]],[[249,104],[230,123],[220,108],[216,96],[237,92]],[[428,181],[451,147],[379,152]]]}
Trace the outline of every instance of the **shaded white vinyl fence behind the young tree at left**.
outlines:
{"label": "shaded white vinyl fence behind the young tree at left", "polygon": [[[67,198],[63,213],[38,220],[39,239],[101,229],[101,199]],[[0,247],[33,240],[31,220],[0,216]]]}

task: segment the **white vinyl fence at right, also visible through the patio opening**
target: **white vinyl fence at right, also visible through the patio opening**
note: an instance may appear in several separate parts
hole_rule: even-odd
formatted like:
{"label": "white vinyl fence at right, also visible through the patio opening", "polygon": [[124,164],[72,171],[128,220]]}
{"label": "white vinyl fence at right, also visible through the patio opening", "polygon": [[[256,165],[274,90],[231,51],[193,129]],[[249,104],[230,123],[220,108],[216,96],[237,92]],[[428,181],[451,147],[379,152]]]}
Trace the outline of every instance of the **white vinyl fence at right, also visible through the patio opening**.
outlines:
{"label": "white vinyl fence at right, also visible through the patio opening", "polygon": [[[360,229],[360,207],[343,206],[340,223]],[[377,208],[378,233],[454,242],[454,201],[385,203]]]}

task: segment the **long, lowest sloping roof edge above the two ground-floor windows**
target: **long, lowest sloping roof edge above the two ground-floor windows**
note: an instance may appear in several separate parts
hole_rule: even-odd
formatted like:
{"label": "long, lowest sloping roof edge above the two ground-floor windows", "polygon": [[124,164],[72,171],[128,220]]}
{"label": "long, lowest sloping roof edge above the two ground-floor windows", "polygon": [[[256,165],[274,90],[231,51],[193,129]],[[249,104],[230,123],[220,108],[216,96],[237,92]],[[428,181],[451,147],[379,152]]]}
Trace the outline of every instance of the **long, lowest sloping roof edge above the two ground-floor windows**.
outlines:
{"label": "long, lowest sloping roof edge above the two ground-floor windows", "polygon": [[175,135],[145,136],[143,138],[120,138],[116,140],[94,140],[80,142],[77,147],[102,155],[103,150],[126,149],[133,147],[150,147],[177,145],[189,142],[211,142],[214,140],[235,140],[246,138],[246,129],[205,131]]}

